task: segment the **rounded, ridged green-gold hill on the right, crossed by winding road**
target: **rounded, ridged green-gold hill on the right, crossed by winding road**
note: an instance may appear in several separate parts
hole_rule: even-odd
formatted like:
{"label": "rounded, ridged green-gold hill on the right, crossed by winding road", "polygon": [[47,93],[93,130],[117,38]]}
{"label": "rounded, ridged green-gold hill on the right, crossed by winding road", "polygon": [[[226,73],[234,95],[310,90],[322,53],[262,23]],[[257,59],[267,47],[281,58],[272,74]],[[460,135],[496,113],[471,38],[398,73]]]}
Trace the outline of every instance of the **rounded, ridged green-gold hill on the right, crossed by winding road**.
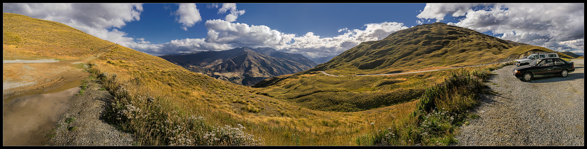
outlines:
{"label": "rounded, ridged green-gold hill on the right, crossed by winding road", "polygon": [[[444,23],[414,26],[383,40],[363,42],[306,72],[266,79],[255,92],[298,106],[324,111],[362,111],[413,101],[427,84],[444,81],[452,70],[393,76],[335,75],[416,72],[519,59],[530,52],[553,51],[515,46],[471,29]],[[561,57],[569,57],[559,53]]]}

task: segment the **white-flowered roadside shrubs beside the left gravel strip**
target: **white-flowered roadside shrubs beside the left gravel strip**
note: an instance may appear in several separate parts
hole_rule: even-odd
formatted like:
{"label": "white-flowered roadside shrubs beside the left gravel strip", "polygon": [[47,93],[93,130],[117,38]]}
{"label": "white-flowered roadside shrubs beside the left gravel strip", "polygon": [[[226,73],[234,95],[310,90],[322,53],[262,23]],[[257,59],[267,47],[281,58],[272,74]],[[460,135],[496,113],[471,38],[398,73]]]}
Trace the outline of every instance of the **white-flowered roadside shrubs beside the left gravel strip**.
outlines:
{"label": "white-flowered roadside shrubs beside the left gravel strip", "polygon": [[261,138],[245,133],[241,124],[211,126],[203,117],[177,111],[166,99],[133,94],[142,84],[138,77],[117,80],[116,74],[101,73],[97,78],[114,96],[106,119],[134,133],[139,138],[137,145],[264,145]]}

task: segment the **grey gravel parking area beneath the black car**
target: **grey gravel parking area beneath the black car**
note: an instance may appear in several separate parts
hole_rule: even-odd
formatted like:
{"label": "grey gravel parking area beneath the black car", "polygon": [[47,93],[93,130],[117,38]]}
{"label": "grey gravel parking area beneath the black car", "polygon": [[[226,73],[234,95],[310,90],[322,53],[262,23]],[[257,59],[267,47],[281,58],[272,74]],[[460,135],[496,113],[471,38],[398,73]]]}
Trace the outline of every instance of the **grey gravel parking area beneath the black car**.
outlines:
{"label": "grey gravel parking area beneath the black car", "polygon": [[583,59],[573,59],[568,77],[522,82],[516,66],[494,70],[486,83],[497,94],[482,94],[474,118],[455,145],[585,145],[585,74]]}

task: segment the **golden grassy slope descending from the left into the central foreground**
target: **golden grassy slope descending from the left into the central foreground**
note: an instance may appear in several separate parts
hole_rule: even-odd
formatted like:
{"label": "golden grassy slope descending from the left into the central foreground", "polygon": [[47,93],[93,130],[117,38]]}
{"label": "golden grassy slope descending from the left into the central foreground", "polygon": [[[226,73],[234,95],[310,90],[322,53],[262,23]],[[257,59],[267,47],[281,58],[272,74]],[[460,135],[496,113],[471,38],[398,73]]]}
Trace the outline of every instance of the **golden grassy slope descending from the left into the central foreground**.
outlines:
{"label": "golden grassy slope descending from the left into the central foreground", "polygon": [[[367,128],[369,121],[372,121],[377,114],[409,111],[405,110],[408,107],[403,109],[390,107],[387,110],[360,113],[309,110],[287,101],[250,93],[249,87],[190,72],[160,57],[146,55],[122,46],[113,48],[94,60],[91,70],[97,76],[100,74],[107,76],[102,77],[106,82],[106,89],[120,99],[124,99],[117,100],[121,109],[114,109],[111,113],[112,117],[120,117],[114,111],[127,109],[124,106],[127,104],[140,109],[153,109],[152,111],[143,110],[144,114],[150,116],[153,114],[167,116],[116,122],[120,123],[124,130],[136,131],[138,136],[143,137],[141,140],[145,142],[141,142],[141,145],[178,144],[173,140],[160,138],[168,134],[150,134],[151,131],[159,130],[151,124],[166,124],[164,121],[171,121],[173,123],[169,124],[169,127],[190,127],[190,123],[193,122],[186,120],[192,116],[203,117],[205,120],[203,123],[210,129],[174,134],[174,137],[215,133],[211,128],[214,124],[234,127],[241,124],[246,128],[244,130],[246,133],[253,134],[254,140],[261,140],[265,145],[353,145],[353,138],[364,133],[363,130]],[[116,79],[112,76],[114,73]],[[125,90],[128,90],[127,94],[124,93]],[[147,94],[154,98],[154,104],[151,106],[146,104],[144,97]],[[414,103],[406,103],[406,105],[410,104]],[[154,108],[152,105],[161,105],[161,109]],[[134,124],[140,124],[140,126]],[[260,138],[257,139],[257,137]],[[211,145],[239,144],[212,143]]]}

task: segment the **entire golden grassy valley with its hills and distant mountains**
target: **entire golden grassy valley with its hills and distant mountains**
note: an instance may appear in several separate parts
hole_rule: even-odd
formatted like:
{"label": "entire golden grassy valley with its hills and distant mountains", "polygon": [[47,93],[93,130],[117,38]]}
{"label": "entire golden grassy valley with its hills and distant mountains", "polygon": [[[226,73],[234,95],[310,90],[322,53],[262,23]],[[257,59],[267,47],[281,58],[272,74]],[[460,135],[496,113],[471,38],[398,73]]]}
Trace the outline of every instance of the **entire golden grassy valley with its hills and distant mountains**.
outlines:
{"label": "entire golden grassy valley with its hills and distant mountains", "polygon": [[454,145],[478,125],[468,110],[494,89],[484,81],[511,69],[496,62],[552,51],[437,22],[319,65],[271,48],[153,56],[62,23],[3,20],[5,109],[18,94],[77,90],[47,116],[43,145]]}

